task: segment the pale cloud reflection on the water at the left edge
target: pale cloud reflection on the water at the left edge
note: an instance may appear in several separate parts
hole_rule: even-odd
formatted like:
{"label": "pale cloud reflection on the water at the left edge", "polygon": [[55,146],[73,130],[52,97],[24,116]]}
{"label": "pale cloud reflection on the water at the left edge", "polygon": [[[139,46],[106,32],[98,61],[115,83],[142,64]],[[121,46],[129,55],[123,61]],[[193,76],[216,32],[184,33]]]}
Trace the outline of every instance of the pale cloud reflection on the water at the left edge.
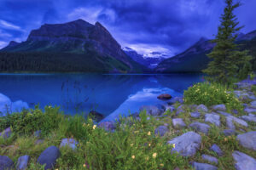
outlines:
{"label": "pale cloud reflection on the water at the left edge", "polygon": [[6,111],[15,112],[15,111],[21,111],[22,109],[28,109],[28,105],[26,102],[23,102],[22,100],[18,100],[15,102],[12,102],[9,97],[0,94],[0,112],[6,113]]}

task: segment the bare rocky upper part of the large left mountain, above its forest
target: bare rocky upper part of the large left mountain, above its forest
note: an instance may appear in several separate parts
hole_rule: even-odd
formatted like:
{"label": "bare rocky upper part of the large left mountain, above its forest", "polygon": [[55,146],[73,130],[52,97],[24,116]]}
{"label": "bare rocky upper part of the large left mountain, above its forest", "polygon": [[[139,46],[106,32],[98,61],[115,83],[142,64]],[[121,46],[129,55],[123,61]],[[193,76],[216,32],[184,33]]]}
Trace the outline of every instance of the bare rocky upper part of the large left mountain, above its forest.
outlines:
{"label": "bare rocky upper part of the large left mountain, above its forest", "polygon": [[[31,31],[26,42],[11,42],[2,52],[47,52],[89,54],[93,51],[104,57],[123,62],[134,70],[139,67],[120,47],[109,31],[99,22],[95,25],[84,20],[64,24],[45,24]],[[99,62],[102,62],[98,59]],[[108,59],[109,60],[109,59]],[[116,62],[115,62],[116,63]]]}

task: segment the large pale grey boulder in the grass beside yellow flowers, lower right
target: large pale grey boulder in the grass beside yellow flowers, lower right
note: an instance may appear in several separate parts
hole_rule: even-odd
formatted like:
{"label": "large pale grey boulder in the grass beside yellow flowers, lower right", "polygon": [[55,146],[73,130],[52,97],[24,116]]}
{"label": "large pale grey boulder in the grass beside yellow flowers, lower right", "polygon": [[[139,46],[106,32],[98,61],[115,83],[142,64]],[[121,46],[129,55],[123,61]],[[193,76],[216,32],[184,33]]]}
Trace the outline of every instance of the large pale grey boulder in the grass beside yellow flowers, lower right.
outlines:
{"label": "large pale grey boulder in the grass beside yellow flowers, lower right", "polygon": [[183,133],[183,135],[168,141],[168,144],[175,144],[172,151],[177,151],[182,156],[194,156],[200,147],[201,135],[195,132]]}

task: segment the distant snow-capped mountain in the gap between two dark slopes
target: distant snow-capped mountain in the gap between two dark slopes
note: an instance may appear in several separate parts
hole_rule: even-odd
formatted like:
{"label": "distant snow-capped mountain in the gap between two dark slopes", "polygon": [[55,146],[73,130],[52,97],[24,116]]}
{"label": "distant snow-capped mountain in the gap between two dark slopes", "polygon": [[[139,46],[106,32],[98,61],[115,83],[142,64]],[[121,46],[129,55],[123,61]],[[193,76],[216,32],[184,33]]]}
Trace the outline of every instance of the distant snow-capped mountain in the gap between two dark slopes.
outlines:
{"label": "distant snow-capped mountain in the gap between two dark slopes", "polygon": [[166,55],[160,52],[152,52],[151,54],[137,54],[134,49],[125,47],[123,48],[125,54],[131,57],[137,63],[148,67],[149,69],[154,69],[162,60],[166,59]]}

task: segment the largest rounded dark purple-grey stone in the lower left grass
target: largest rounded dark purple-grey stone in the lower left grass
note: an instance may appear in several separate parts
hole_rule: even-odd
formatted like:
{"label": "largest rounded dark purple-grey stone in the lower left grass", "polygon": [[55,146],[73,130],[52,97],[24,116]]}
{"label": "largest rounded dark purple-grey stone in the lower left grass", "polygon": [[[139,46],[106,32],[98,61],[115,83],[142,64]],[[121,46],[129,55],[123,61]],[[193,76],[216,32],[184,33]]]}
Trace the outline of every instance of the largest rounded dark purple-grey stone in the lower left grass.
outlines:
{"label": "largest rounded dark purple-grey stone in the lower left grass", "polygon": [[38,157],[38,163],[44,165],[44,170],[51,169],[55,166],[56,160],[61,156],[60,150],[55,146],[49,146]]}

